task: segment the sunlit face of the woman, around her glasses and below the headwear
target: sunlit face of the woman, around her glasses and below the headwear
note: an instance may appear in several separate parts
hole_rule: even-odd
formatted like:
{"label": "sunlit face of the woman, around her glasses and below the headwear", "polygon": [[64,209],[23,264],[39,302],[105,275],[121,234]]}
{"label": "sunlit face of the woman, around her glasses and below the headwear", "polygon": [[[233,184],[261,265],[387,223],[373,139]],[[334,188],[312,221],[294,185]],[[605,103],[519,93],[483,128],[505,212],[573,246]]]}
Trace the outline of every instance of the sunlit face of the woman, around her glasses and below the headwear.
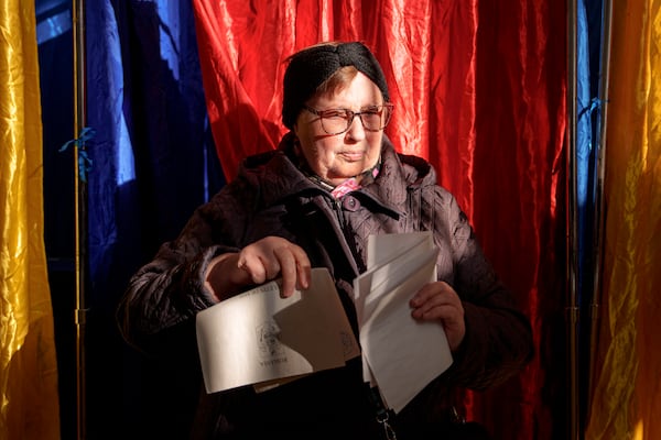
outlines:
{"label": "sunlit face of the woman, around her glasses and below the headwear", "polygon": [[[358,73],[348,87],[332,95],[314,96],[307,107],[317,110],[346,109],[359,112],[383,103],[379,87],[366,75]],[[307,165],[322,179],[339,185],[347,178],[373,167],[381,153],[383,131],[367,131],[356,116],[349,130],[342,134],[327,134],[317,114],[301,111],[294,132]]]}

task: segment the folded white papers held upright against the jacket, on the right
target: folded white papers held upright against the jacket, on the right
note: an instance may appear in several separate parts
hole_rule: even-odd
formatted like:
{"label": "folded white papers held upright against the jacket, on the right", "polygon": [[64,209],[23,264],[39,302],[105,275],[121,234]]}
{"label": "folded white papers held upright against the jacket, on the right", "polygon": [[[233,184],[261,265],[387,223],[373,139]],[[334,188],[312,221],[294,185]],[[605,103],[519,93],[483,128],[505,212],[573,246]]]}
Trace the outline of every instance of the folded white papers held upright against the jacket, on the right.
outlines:
{"label": "folded white papers held upright against the jacket, on the right", "polygon": [[354,280],[365,381],[399,413],[452,364],[440,322],[411,317],[409,300],[436,280],[431,232],[371,235],[368,271]]}

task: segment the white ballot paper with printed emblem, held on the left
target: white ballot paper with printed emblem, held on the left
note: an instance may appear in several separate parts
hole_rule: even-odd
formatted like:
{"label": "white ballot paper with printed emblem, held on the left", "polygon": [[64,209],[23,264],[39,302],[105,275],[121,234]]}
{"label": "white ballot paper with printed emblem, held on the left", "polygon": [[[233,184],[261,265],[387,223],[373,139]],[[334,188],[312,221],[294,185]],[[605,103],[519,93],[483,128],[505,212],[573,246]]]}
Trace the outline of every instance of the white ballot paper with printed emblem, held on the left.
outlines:
{"label": "white ballot paper with printed emblem, held on the left", "polygon": [[243,385],[266,391],[360,354],[326,268],[289,298],[273,280],[197,314],[197,345],[207,393]]}

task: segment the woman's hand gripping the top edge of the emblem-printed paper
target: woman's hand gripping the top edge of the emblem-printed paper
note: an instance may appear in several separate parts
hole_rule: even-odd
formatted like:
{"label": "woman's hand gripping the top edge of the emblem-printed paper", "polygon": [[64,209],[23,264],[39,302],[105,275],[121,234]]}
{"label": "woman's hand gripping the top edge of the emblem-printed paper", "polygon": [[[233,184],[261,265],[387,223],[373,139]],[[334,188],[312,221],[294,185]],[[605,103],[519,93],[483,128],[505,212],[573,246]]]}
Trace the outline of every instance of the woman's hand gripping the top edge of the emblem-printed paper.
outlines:
{"label": "woman's hand gripping the top edge of the emblem-printed paper", "polygon": [[267,237],[243,248],[239,253],[214,258],[207,270],[206,284],[218,300],[230,297],[242,287],[282,277],[282,296],[296,288],[310,287],[311,263],[305,251],[280,237]]}

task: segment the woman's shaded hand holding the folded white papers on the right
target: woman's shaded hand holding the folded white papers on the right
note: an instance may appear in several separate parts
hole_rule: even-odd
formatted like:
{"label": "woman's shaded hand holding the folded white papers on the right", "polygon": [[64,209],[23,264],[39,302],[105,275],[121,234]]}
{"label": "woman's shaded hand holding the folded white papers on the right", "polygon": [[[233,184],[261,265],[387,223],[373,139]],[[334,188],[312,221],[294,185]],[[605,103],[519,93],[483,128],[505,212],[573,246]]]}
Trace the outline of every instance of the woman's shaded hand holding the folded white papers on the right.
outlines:
{"label": "woman's shaded hand holding the folded white papers on the right", "polygon": [[441,320],[452,351],[456,351],[466,334],[464,306],[457,293],[445,282],[426,284],[410,301],[411,316],[421,321]]}

